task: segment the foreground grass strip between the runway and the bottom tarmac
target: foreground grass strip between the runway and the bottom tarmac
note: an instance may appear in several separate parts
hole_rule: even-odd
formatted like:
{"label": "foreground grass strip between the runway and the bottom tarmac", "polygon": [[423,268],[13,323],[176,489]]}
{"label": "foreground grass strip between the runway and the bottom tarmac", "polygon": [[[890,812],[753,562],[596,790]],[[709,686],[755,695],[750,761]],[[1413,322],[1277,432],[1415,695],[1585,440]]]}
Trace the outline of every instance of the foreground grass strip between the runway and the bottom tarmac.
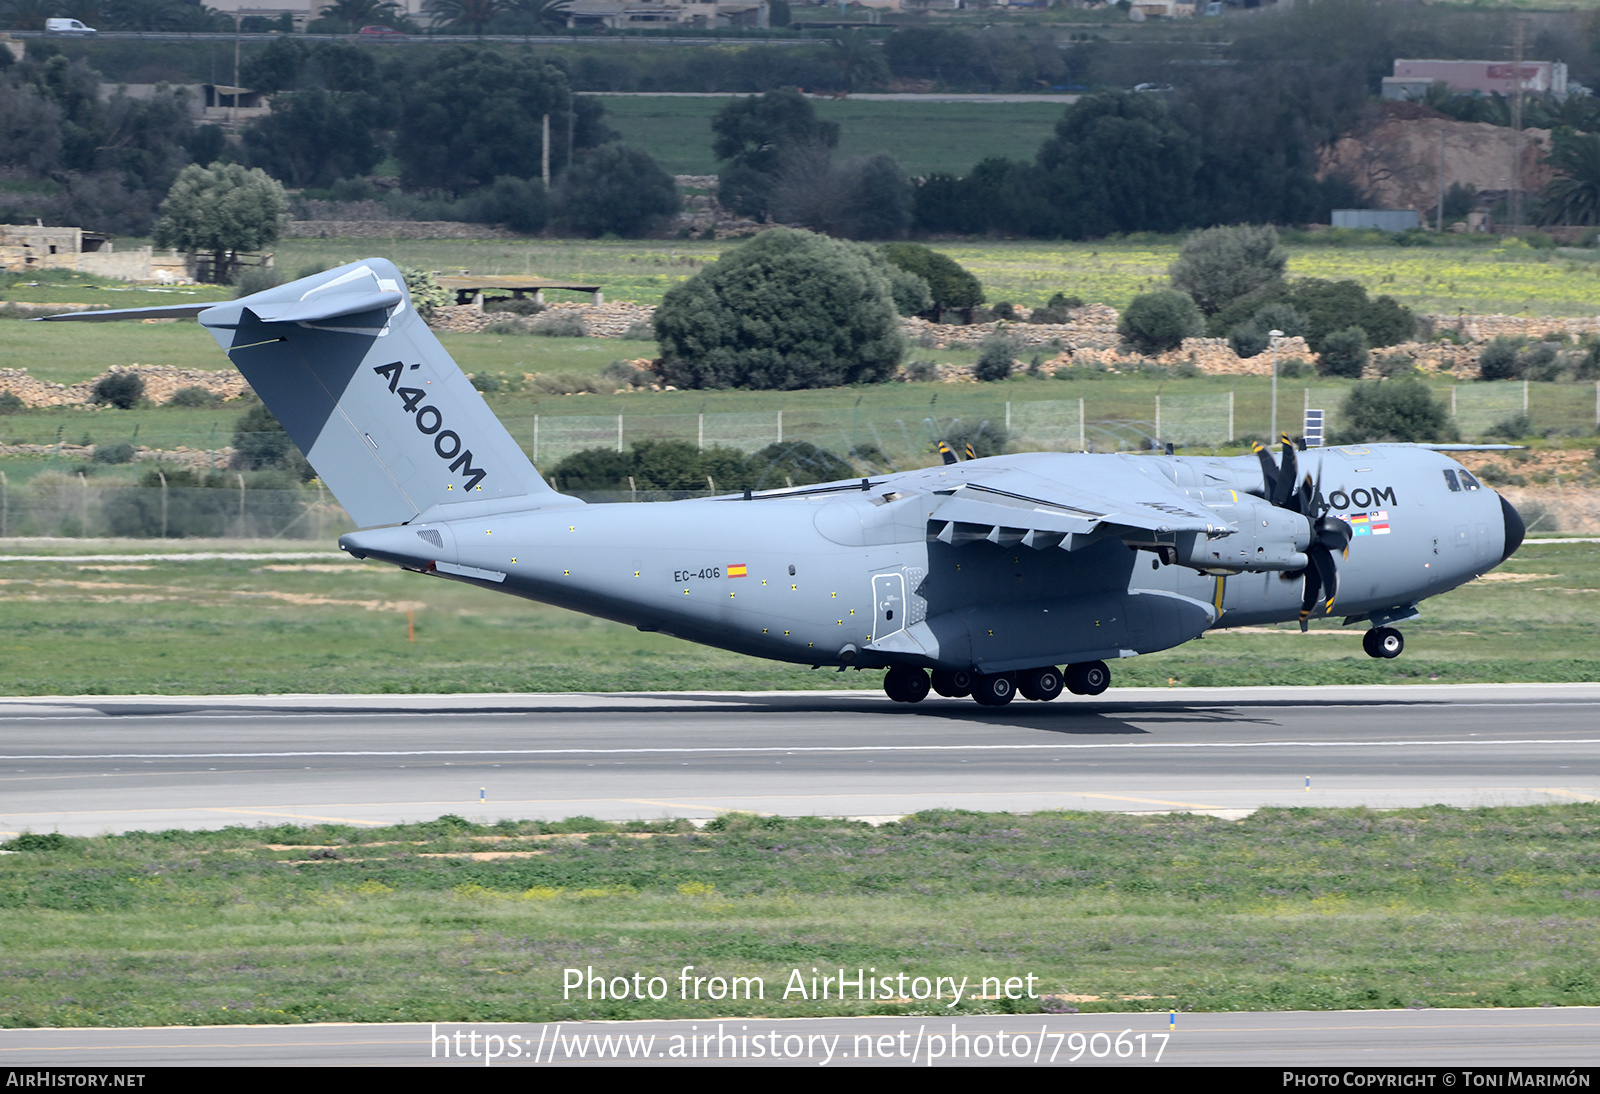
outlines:
{"label": "foreground grass strip between the runway and the bottom tarmac", "polygon": [[[701,832],[442,817],[8,846],[6,1027],[1600,1003],[1594,805]],[[686,964],[765,998],[683,1001]],[[568,968],[670,992],[563,998]],[[1043,998],[784,1000],[811,968],[968,992],[1032,976]]]}

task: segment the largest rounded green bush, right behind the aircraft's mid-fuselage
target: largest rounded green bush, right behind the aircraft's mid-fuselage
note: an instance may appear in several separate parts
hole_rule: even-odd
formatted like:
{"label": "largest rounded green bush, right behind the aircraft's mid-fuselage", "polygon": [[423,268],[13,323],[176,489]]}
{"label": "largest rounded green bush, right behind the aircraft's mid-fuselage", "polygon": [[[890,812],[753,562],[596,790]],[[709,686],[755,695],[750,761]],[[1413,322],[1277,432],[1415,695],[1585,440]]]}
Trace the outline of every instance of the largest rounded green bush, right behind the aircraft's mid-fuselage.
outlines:
{"label": "largest rounded green bush, right behind the aircraft's mid-fuselage", "polygon": [[850,243],[773,229],[656,309],[678,387],[802,389],[888,379],[906,352],[888,281]]}

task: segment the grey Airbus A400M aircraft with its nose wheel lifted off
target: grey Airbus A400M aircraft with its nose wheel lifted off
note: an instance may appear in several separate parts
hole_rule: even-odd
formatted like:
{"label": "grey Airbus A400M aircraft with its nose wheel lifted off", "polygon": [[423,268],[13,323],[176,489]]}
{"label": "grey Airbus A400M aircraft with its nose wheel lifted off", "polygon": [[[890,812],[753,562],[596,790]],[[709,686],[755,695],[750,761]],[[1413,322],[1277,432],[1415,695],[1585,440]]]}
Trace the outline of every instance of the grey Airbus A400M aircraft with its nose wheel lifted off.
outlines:
{"label": "grey Airbus A400M aircraft with its nose wheel lifted off", "polygon": [[587,505],[539,477],[382,259],[227,304],[51,318],[176,315],[211,331],[363,528],[339,541],[357,558],[758,657],[886,669],[901,702],[1099,694],[1109,661],[1334,613],[1394,657],[1395,624],[1523,537],[1440,451],[1286,440]]}

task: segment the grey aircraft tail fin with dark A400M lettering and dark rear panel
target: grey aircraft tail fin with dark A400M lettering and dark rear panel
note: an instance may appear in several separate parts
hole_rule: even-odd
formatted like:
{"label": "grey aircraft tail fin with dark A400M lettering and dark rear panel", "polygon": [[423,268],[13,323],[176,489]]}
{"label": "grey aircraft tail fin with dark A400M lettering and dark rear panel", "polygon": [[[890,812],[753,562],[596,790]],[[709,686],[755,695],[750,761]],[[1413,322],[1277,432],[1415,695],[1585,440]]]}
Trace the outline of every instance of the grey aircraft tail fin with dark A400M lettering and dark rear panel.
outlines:
{"label": "grey aircraft tail fin with dark A400M lettering and dark rear panel", "polygon": [[[94,312],[90,321],[149,315],[138,312]],[[198,318],[362,528],[453,502],[581,504],[539,477],[384,259],[216,304]]]}

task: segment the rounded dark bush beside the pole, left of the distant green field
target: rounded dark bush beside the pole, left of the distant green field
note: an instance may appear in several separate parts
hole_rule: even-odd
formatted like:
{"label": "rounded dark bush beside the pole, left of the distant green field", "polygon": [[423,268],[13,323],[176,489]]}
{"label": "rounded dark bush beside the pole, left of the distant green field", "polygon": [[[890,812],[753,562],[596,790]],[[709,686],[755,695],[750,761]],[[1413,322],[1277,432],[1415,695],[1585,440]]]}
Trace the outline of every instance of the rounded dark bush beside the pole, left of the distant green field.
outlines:
{"label": "rounded dark bush beside the pole, left of the distant green field", "polygon": [[677,184],[648,152],[602,144],[562,173],[555,219],[581,235],[638,237],[682,205]]}

